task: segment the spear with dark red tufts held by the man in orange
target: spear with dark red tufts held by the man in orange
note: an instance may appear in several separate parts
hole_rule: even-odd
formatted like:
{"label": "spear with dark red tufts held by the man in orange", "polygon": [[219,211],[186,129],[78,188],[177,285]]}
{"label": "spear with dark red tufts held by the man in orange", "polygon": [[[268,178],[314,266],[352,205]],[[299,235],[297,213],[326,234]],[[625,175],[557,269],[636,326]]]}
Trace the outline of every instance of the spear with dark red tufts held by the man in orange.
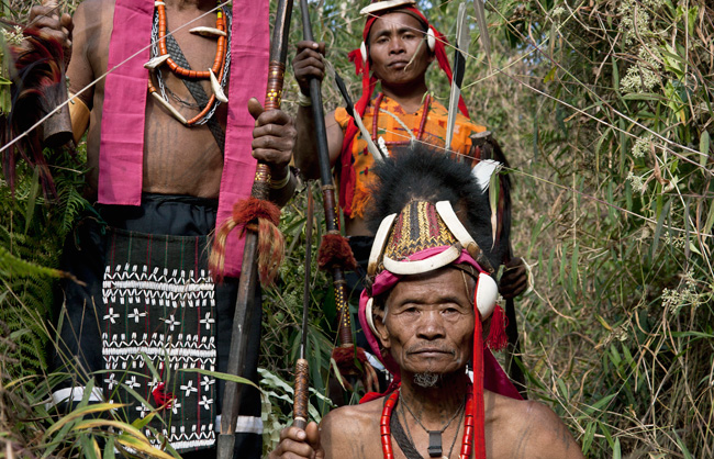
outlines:
{"label": "spear with dark red tufts held by the man in orange", "polygon": [[[308,0],[300,0],[300,13],[302,15],[303,40],[314,41],[312,26],[310,25],[310,13]],[[343,374],[362,374],[369,381],[373,373],[367,362],[365,351],[356,348],[353,342],[352,318],[347,304],[347,289],[343,269],[355,269],[355,260],[347,239],[339,234],[337,223],[337,201],[335,200],[335,186],[332,180],[330,167],[330,150],[327,148],[327,133],[325,130],[325,114],[322,108],[322,92],[320,80],[310,79],[310,99],[312,102],[312,116],[315,122],[315,134],[317,138],[317,158],[320,163],[320,183],[325,210],[325,223],[327,233],[323,236],[317,255],[317,265],[321,269],[330,269],[333,276],[335,290],[335,304],[337,306],[337,337],[339,346],[333,350],[333,359]],[[355,365],[358,360],[362,368]]]}

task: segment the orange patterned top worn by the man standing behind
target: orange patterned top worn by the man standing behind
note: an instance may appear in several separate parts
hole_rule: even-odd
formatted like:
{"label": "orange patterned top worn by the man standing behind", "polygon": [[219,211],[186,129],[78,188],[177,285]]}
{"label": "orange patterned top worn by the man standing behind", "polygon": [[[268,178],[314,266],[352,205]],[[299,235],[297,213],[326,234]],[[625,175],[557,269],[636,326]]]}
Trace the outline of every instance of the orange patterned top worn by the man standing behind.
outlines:
{"label": "orange patterned top worn by the man standing behind", "polygon": [[[376,100],[370,102],[365,111],[365,115],[362,116],[365,127],[370,132],[373,131],[375,103]],[[419,135],[424,114],[424,105],[422,105],[415,113],[406,113],[397,101],[383,96],[379,108],[380,113],[377,117],[377,138],[382,137],[384,139],[390,154],[392,149],[397,147],[393,143],[404,143],[408,145],[412,138],[402,124],[391,116],[390,113],[399,117],[403,124],[410,127],[414,137]],[[431,146],[444,148],[446,143],[446,122],[448,119],[448,112],[444,105],[433,98],[431,98],[426,110],[428,114],[424,123],[424,132],[419,139]],[[384,113],[384,111],[388,111],[389,113]],[[342,126],[343,133],[347,128],[347,124],[350,120],[352,116],[347,114],[347,111],[344,108],[339,108],[335,111],[335,121]],[[451,141],[451,149],[455,152],[453,156],[469,155],[471,150],[471,138],[469,136],[473,133],[483,131],[486,131],[486,127],[472,123],[468,117],[458,113],[454,125],[454,137]],[[375,142],[377,142],[377,138],[375,138]],[[370,186],[373,182],[373,176],[370,175],[370,169],[373,167],[375,159],[367,150],[367,142],[362,138],[361,133],[357,133],[352,143],[352,155],[356,175],[356,187],[352,202],[352,216],[364,219],[366,206],[371,199]]]}

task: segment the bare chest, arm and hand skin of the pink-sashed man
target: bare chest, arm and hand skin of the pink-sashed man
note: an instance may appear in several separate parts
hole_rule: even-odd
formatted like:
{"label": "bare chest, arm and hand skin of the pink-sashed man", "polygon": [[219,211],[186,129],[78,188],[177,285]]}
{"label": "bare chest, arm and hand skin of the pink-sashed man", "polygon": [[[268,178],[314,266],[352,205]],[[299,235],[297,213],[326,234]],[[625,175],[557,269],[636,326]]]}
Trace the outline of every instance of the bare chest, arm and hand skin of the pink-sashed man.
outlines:
{"label": "bare chest, arm and hand skin of the pink-sashed man", "polygon": [[[214,27],[215,13],[204,14],[214,7],[215,1],[210,0],[166,1],[168,30],[174,33],[183,55],[194,69],[210,68],[213,65],[215,40],[190,34],[189,30],[201,25]],[[35,7],[33,13],[40,16],[48,10],[47,7]],[[81,91],[79,99],[90,109],[87,166],[90,168],[89,181],[94,190],[99,176],[101,117],[107,81],[105,78],[100,77],[103,77],[108,70],[113,16],[113,0],[86,0],[79,4],[72,18],[71,59],[67,68],[69,91],[71,93]],[[52,21],[49,18],[43,18],[35,25],[41,27],[49,21]],[[189,90],[178,77],[170,71],[164,71],[164,78],[166,86],[178,99],[194,103]],[[94,80],[97,82],[90,86]],[[210,94],[209,82],[201,81],[201,85]],[[90,87],[82,91],[88,86]],[[176,105],[176,100],[172,102]],[[179,111],[188,113],[189,117],[198,113],[198,109],[192,111],[179,109]],[[219,105],[216,119],[224,131],[226,112],[226,104]],[[258,101],[250,105],[250,112],[256,116],[260,114]],[[287,173],[291,157],[290,141],[294,137],[292,120],[287,114],[275,111],[260,116],[258,124],[264,125],[265,128],[256,130],[254,133],[254,136],[258,137],[254,142],[254,155],[268,160],[274,172],[272,178],[280,180]],[[223,156],[205,126],[186,128],[149,97],[146,102],[144,132],[144,192],[217,198],[223,172]],[[287,200],[285,197],[280,198],[282,201]]]}

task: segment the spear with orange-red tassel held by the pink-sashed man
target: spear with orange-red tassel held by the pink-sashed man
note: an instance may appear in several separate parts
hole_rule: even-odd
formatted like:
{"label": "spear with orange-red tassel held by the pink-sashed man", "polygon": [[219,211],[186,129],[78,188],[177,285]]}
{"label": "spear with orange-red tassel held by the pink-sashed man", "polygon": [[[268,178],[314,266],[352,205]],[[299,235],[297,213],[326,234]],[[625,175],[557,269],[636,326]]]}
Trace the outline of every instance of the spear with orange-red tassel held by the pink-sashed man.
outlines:
{"label": "spear with orange-red tassel held by the pink-sashed man", "polygon": [[[288,32],[290,30],[291,14],[292,0],[279,0],[276,10],[276,23],[272,30],[272,40],[270,42],[268,87],[265,98],[266,111],[280,108],[286,58],[288,57]],[[250,323],[250,315],[253,314],[254,309],[260,307],[259,304],[254,304],[254,292],[257,288],[258,264],[261,265],[260,277],[264,283],[270,283],[271,277],[275,276],[277,266],[279,266],[279,261],[272,258],[276,255],[276,250],[259,250],[258,247],[261,244],[261,242],[258,240],[258,232],[263,233],[263,236],[267,236],[267,239],[270,239],[270,237],[282,238],[282,235],[276,227],[280,211],[275,204],[267,201],[270,191],[269,181],[270,169],[266,164],[258,161],[250,198],[236,203],[233,209],[233,219],[227,226],[219,228],[216,232],[216,240],[214,243],[214,250],[217,249],[219,253],[224,254],[225,247],[221,247],[221,244],[225,244],[227,233],[238,224],[247,223],[245,231],[243,268],[241,270],[238,295],[235,304],[235,315],[233,317],[233,333],[231,337],[231,351],[227,367],[227,372],[233,376],[244,373],[246,360],[245,351],[249,335],[247,325]],[[241,214],[241,216],[238,217],[237,214]],[[255,227],[256,221],[258,221],[258,232],[256,232]],[[280,243],[275,245],[282,246]],[[223,248],[223,251],[221,251],[221,248]],[[258,255],[258,251],[261,254]],[[256,258],[263,258],[263,260],[258,259],[258,264],[256,264]],[[237,382],[225,382],[223,411],[221,414],[221,434],[219,435],[217,444],[219,459],[231,459],[233,457],[239,393],[241,385]]]}

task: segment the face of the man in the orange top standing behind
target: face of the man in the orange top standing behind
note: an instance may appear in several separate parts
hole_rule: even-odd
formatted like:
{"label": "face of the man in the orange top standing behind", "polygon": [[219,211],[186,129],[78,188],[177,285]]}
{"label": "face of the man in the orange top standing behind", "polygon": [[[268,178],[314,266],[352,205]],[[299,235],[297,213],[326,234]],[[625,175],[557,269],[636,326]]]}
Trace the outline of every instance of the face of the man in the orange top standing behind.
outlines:
{"label": "face of the man in the orange top standing behind", "polygon": [[369,57],[382,83],[404,85],[424,78],[434,54],[428,51],[423,29],[416,18],[401,12],[375,21],[369,31]]}

